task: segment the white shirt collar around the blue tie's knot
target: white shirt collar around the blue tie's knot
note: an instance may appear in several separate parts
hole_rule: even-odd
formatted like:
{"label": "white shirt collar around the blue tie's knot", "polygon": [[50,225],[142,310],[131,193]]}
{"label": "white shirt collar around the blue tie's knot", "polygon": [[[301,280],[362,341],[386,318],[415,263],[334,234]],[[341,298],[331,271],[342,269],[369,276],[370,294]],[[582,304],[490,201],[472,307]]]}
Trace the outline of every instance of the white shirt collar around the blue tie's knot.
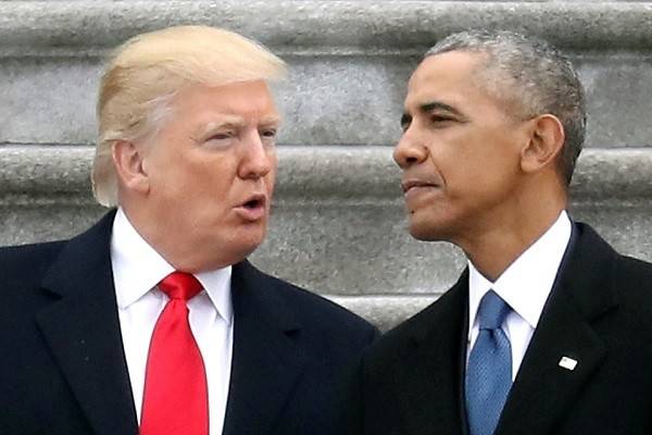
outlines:
{"label": "white shirt collar around the blue tie's knot", "polygon": [[468,261],[468,331],[473,328],[480,300],[490,289],[536,328],[570,239],[570,220],[566,211],[562,211],[554,224],[494,283]]}

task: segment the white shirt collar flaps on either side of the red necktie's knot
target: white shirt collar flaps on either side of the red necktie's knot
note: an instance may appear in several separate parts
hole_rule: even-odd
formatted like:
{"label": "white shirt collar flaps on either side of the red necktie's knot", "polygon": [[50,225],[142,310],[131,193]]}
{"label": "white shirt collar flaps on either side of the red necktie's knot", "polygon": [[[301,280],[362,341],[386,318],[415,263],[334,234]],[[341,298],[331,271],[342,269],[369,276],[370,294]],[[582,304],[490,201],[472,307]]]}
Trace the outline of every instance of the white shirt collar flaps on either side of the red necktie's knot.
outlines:
{"label": "white shirt collar flaps on either side of the red necktie's knot", "polygon": [[[174,268],[138,234],[122,208],[117,209],[113,221],[111,264],[120,309],[125,309],[142,298],[161,279],[174,272]],[[205,289],[217,313],[230,324],[231,266],[198,273],[195,277]]]}

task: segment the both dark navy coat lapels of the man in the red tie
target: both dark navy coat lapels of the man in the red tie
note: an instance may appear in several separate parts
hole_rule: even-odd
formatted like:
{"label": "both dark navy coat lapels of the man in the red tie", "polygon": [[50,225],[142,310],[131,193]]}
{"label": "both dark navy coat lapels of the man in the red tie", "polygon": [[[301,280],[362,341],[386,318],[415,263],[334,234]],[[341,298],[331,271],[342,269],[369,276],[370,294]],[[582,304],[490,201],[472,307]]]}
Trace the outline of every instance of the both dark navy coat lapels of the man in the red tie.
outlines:
{"label": "both dark navy coat lapels of the man in the red tie", "polygon": [[[136,434],[111,269],[115,211],[67,241],[42,281],[59,299],[37,322],[97,435]],[[265,434],[302,374],[300,323],[275,291],[278,281],[235,264],[234,356],[224,434]]]}

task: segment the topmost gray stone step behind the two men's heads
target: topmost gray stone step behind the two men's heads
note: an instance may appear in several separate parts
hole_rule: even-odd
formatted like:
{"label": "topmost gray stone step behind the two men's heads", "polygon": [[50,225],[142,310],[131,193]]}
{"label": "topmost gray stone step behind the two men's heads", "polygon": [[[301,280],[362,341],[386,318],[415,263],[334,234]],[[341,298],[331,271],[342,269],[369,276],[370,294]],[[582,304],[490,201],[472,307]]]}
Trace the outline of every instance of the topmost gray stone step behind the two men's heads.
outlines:
{"label": "topmost gray stone step behind the two men's heads", "polygon": [[572,54],[588,91],[591,146],[644,147],[651,20],[643,2],[0,2],[0,142],[91,144],[106,50],[195,22],[260,39],[288,61],[290,79],[278,89],[285,144],[394,142],[406,79],[427,47],[454,30],[500,27]]}

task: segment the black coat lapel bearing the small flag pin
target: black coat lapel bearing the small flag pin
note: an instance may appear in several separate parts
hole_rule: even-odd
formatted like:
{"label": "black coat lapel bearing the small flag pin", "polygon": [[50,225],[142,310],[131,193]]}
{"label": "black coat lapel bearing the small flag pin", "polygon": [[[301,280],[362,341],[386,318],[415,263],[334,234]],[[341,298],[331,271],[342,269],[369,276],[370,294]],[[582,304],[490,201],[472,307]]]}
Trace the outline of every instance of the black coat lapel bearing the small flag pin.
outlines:
{"label": "black coat lapel bearing the small flag pin", "polygon": [[[617,254],[576,225],[539,325],[503,409],[497,434],[550,434],[606,356],[592,323],[616,307]],[[577,361],[560,366],[563,357]]]}

